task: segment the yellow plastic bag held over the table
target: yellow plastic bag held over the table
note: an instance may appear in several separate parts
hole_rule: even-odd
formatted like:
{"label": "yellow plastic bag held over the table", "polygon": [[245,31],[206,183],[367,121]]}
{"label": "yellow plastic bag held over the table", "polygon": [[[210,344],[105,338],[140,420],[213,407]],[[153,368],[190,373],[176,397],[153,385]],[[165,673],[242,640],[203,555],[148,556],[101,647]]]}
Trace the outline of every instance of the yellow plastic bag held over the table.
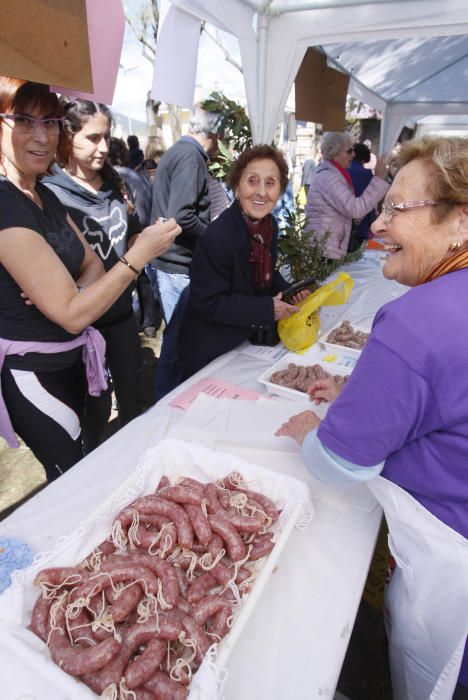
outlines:
{"label": "yellow plastic bag held over the table", "polygon": [[318,309],[321,306],[337,306],[345,304],[353,288],[353,280],[345,272],[340,272],[336,280],[324,284],[316,292],[302,301],[300,311],[289,318],[278,321],[279,337],[284,345],[293,352],[302,353],[315,343],[320,317]]}

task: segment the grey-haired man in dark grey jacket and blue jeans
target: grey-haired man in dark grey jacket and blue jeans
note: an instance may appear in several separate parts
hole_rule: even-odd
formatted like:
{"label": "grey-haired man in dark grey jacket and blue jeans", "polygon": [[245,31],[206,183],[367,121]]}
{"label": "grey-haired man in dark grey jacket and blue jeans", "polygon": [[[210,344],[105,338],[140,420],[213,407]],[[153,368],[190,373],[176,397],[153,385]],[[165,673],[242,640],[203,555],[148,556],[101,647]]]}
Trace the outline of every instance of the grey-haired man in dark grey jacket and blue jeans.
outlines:
{"label": "grey-haired man in dark grey jacket and blue jeans", "polygon": [[[153,182],[151,219],[174,217],[182,228],[176,242],[161,259],[151,262],[166,324],[156,369],[156,397],[164,395],[165,377],[177,361],[169,322],[182,291],[189,283],[192,255],[210,223],[210,190],[207,161],[218,147],[220,115],[199,105],[192,111],[187,136],[182,136],[161,158]],[[164,350],[164,346],[166,346]]]}

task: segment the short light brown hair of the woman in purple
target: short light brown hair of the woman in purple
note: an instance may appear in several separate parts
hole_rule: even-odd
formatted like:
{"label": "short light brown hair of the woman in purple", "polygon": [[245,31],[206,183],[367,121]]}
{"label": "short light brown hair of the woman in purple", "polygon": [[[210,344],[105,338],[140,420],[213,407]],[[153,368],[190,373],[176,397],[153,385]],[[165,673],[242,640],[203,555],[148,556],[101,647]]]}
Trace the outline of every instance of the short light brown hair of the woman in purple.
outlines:
{"label": "short light brown hair of the woman in purple", "polygon": [[431,198],[446,202],[433,209],[437,223],[443,221],[457,205],[468,204],[468,138],[425,136],[406,141],[398,153],[398,164],[402,167],[413,160],[427,166]]}

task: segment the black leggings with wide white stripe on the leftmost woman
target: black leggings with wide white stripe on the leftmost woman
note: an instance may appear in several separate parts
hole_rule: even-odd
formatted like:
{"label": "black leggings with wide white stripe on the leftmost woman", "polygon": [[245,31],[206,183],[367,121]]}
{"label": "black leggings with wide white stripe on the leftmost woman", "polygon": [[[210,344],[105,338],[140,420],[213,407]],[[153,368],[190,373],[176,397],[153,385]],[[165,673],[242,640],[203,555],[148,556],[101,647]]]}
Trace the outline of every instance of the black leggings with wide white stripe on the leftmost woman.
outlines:
{"label": "black leggings with wide white stripe on the leftmost woman", "polygon": [[83,362],[53,372],[4,367],[1,383],[13,429],[43,464],[47,480],[53,481],[83,457]]}

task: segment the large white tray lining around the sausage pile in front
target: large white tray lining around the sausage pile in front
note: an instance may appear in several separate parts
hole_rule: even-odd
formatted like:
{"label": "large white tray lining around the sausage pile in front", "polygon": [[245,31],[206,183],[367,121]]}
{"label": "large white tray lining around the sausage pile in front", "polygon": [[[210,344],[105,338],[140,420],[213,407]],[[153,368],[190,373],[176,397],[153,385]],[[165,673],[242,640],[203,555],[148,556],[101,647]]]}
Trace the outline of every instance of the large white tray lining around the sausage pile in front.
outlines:
{"label": "large white tray lining around the sausage pile in front", "polygon": [[4,697],[26,697],[34,689],[32,682],[38,692],[37,697],[42,697],[41,690],[47,688],[48,700],[63,700],[64,697],[85,700],[96,697],[86,685],[77,683],[76,679],[53,664],[45,644],[27,629],[39,593],[37,587],[33,586],[38,571],[45,567],[72,565],[81,561],[108,536],[120,510],[136,497],[154,491],[163,474],[167,474],[171,480],[186,475],[200,481],[212,481],[225,477],[232,471],[240,472],[252,484],[253,490],[272,498],[282,512],[272,528],[275,546],[264,559],[263,568],[251,591],[243,597],[230,633],[219,645],[217,653],[207,654],[192,680],[189,700],[220,700],[222,683],[219,682],[216,669],[219,670],[220,666],[226,664],[288,537],[304,513],[304,506],[310,502],[310,496],[307,486],[298,479],[249,464],[234,455],[170,439],[162,440],[156,447],[147,450],[132,475],[112,495],[103,499],[101,507],[90,514],[71,535],[61,538],[51,552],[38,555],[30,567],[13,575],[12,585],[0,596],[0,634],[15,649],[12,664],[16,664],[4,681]]}

